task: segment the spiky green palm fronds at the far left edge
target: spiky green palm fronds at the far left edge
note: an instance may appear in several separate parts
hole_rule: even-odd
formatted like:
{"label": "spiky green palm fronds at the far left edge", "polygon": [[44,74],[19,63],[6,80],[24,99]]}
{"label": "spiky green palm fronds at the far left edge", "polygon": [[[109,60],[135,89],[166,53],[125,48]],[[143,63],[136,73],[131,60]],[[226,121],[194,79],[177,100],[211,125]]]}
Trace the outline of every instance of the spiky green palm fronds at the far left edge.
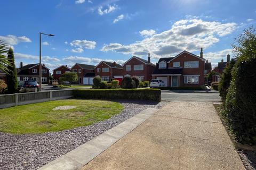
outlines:
{"label": "spiky green palm fronds at the far left edge", "polygon": [[7,68],[10,65],[10,62],[7,60],[7,52],[9,47],[4,43],[4,41],[0,40],[0,70],[9,74],[10,70]]}

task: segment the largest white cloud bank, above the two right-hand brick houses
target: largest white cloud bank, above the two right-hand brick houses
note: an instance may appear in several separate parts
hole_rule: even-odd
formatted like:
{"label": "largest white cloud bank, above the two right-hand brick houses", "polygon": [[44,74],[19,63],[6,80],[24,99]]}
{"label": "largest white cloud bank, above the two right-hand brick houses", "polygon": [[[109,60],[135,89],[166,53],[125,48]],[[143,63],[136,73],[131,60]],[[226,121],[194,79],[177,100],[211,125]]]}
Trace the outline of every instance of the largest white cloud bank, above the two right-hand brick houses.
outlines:
{"label": "largest white cloud bank, above the two right-hand brick houses", "polygon": [[236,29],[236,23],[185,19],[175,22],[169,30],[145,37],[141,41],[123,45],[110,43],[102,47],[103,52],[113,51],[129,55],[145,56],[148,52],[153,58],[174,56],[188,50],[194,52],[218,43],[221,37]]}

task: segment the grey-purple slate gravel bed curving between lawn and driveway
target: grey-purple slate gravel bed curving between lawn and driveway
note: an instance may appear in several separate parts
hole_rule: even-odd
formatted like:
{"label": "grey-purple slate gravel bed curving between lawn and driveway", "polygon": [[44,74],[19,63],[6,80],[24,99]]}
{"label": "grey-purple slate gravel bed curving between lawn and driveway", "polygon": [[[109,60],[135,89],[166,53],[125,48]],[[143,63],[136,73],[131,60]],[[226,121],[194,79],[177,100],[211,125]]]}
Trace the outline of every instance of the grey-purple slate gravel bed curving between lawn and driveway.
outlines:
{"label": "grey-purple slate gravel bed curving between lawn and driveway", "polygon": [[77,148],[99,134],[148,107],[161,108],[167,102],[118,100],[123,111],[89,126],[36,135],[0,132],[0,169],[37,169]]}

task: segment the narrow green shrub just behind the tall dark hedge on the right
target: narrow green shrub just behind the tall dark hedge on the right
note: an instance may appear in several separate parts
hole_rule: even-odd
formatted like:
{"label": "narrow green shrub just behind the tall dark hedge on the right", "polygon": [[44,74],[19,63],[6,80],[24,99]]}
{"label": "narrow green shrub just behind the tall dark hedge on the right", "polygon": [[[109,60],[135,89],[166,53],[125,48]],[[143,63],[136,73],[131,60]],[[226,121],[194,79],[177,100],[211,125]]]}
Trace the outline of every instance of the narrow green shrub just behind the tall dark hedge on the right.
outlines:
{"label": "narrow green shrub just behind the tall dark hedge on the right", "polygon": [[232,59],[230,61],[230,63],[227,64],[227,67],[225,68],[225,70],[223,71],[223,73],[220,76],[220,82],[219,82],[219,86],[218,86],[218,90],[220,92],[220,97],[221,100],[225,102],[226,100],[226,96],[228,93],[228,88],[230,86],[230,81],[231,81],[231,70],[233,69],[235,65],[235,61],[234,59]]}

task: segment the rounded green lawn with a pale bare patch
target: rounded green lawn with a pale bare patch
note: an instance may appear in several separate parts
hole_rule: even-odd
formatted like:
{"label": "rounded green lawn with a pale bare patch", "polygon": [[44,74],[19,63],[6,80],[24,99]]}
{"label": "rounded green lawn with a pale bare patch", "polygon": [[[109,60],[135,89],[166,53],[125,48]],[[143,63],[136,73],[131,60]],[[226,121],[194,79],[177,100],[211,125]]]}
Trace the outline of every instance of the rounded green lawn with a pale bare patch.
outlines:
{"label": "rounded green lawn with a pale bare patch", "polygon": [[[52,111],[57,106],[77,106],[66,111]],[[35,134],[87,126],[122,111],[123,106],[105,100],[55,100],[0,109],[0,131]]]}

